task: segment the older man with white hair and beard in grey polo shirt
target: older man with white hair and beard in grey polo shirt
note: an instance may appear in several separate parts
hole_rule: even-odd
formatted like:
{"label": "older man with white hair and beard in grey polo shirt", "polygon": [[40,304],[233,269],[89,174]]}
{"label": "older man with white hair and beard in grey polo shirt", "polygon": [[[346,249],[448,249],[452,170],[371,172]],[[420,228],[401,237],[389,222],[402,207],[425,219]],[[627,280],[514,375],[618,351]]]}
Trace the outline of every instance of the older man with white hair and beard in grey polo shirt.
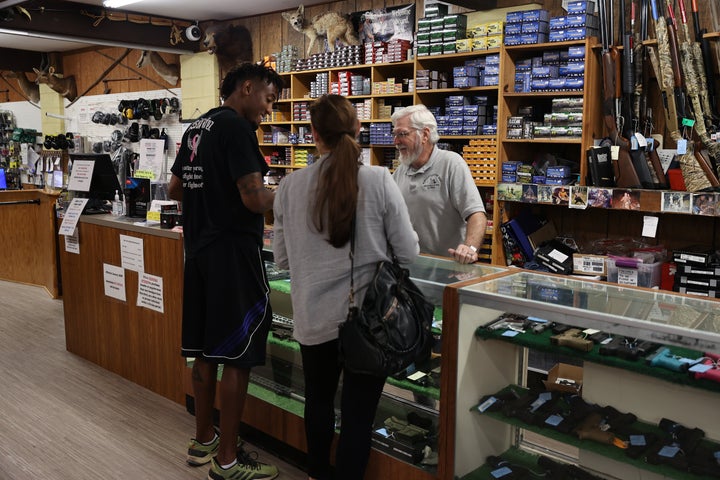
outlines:
{"label": "older man with white hair and beard in grey polo shirt", "polygon": [[425,105],[398,109],[391,120],[400,158],[393,178],[420,237],[420,251],[476,262],[487,217],[467,163],[437,148],[437,122]]}

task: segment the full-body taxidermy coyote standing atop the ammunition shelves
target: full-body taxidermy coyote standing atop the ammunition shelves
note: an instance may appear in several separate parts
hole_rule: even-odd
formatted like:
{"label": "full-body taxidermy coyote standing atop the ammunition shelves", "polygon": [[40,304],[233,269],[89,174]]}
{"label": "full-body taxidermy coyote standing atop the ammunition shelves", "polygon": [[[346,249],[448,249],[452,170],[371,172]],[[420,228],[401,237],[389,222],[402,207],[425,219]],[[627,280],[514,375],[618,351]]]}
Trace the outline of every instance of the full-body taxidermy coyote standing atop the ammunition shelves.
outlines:
{"label": "full-body taxidermy coyote standing atop the ammunition shelves", "polygon": [[322,12],[312,19],[305,17],[305,7],[300,5],[295,12],[283,12],[282,17],[290,23],[300,33],[310,39],[307,54],[310,55],[315,42],[318,39],[327,39],[328,48],[331,52],[335,51],[335,42],[340,41],[344,45],[359,45],[352,22],[347,15],[341,15],[337,12]]}

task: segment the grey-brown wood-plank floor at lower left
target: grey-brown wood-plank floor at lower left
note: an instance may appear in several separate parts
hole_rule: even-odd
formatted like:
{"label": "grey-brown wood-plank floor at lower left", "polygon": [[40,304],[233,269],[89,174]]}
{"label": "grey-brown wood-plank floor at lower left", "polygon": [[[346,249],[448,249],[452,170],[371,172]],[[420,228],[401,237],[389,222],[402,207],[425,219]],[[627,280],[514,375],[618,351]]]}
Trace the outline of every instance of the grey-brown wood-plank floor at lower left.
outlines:
{"label": "grey-brown wood-plank floor at lower left", "polygon": [[[0,480],[207,478],[185,464],[194,418],[67,352],[62,308],[41,288],[0,281]],[[246,447],[278,478],[307,479]]]}

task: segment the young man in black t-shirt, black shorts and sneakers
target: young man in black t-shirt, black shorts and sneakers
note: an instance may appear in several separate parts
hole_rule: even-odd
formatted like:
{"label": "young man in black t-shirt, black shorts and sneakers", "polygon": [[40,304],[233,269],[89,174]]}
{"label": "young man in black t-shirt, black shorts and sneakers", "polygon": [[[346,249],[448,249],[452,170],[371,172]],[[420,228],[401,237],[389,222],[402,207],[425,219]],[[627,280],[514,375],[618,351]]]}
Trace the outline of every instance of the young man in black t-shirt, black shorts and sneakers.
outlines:
{"label": "young man in black t-shirt, black shorts and sneakers", "polygon": [[[264,65],[242,64],[225,76],[223,104],[194,121],[172,166],[170,197],[182,201],[185,242],[182,355],[195,358],[195,438],[190,465],[212,462],[208,478],[275,478],[277,468],[237,450],[250,369],[265,363],[272,320],[261,255],[264,213],[274,193],[257,130],[282,79]],[[217,368],[220,431],[213,425]]]}

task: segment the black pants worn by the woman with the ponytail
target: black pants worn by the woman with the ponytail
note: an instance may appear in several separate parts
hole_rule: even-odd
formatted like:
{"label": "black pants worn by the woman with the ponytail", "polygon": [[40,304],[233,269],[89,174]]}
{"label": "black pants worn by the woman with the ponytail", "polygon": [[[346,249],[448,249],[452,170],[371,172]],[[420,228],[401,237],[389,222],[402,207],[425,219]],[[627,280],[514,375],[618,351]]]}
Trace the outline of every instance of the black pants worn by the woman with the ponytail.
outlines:
{"label": "black pants worn by the woman with the ponytail", "polygon": [[[305,376],[305,437],[308,475],[330,479],[330,447],[335,433],[335,392],[342,366],[338,342],[300,345]],[[343,372],[342,423],[335,452],[336,478],[362,480],[370,456],[375,411],[385,378]]]}

